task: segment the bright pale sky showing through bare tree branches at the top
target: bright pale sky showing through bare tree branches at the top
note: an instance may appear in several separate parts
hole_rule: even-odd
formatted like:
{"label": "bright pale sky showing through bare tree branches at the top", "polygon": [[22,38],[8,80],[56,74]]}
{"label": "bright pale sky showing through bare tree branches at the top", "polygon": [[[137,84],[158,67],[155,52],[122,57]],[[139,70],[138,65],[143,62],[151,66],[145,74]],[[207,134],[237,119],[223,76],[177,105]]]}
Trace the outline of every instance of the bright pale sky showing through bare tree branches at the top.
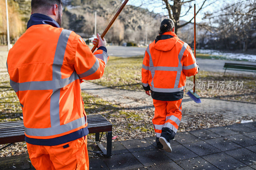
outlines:
{"label": "bright pale sky showing through bare tree branches at the top", "polygon": [[[154,1],[154,4],[150,4],[149,2]],[[187,0],[184,0],[187,1]],[[236,0],[208,0],[206,1],[206,3],[204,4],[204,6],[213,3],[207,7],[205,7],[204,9],[202,9],[198,15],[196,16],[196,22],[200,22],[202,21],[202,18],[204,17],[204,13],[205,12],[213,12],[218,10],[218,8],[222,7],[223,4],[225,4],[226,2],[234,2]],[[202,3],[204,2],[204,0],[196,0],[196,11],[201,7]],[[164,13],[164,15],[168,15],[168,11],[166,9],[163,9],[162,7],[162,0],[129,0],[128,4],[130,5],[134,5],[134,6],[139,6],[142,5],[143,8],[147,8],[149,11],[154,11],[155,13]],[[189,3],[187,3],[189,5]],[[185,15],[184,17],[181,17],[180,20],[185,20],[185,21],[189,21],[191,18],[193,18],[194,16],[194,2],[190,3],[193,7],[190,9],[190,11],[188,12],[187,15]],[[181,8],[181,16],[184,15],[186,13],[186,11],[188,10],[188,6],[183,6]],[[193,22],[193,21],[192,21]]]}

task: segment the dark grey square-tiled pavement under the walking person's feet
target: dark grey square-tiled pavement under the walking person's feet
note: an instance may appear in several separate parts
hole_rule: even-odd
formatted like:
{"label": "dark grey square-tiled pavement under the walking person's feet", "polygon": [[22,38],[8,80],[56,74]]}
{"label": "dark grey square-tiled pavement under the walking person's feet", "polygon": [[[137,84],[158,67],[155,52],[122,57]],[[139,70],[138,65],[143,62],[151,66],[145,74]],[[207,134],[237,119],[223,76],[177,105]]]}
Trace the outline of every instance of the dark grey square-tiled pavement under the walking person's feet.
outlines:
{"label": "dark grey square-tiled pavement under the walking person's feet", "polygon": [[111,158],[91,158],[90,169],[256,169],[256,122],[181,132],[172,153],[156,148],[155,137],[116,141]]}

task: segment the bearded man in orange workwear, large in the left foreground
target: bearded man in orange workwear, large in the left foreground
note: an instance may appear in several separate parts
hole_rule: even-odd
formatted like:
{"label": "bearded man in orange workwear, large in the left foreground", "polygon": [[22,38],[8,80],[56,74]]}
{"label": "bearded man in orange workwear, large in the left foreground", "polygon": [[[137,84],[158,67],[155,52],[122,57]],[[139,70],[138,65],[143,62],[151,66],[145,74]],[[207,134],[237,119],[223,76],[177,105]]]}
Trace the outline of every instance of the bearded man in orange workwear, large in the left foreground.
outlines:
{"label": "bearded man in orange workwear, large in the left foreground", "polygon": [[26,32],[9,51],[10,84],[22,107],[25,141],[39,170],[89,169],[82,79],[101,78],[108,62],[105,39],[91,49],[61,28],[61,0],[32,0]]}

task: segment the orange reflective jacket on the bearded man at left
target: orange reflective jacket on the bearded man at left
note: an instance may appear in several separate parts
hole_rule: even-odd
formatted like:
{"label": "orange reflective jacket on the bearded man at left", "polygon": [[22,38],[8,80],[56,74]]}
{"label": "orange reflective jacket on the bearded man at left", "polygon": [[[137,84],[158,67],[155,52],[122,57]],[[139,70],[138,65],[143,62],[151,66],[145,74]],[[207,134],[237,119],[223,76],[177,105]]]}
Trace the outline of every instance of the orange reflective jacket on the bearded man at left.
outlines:
{"label": "orange reflective jacket on the bearded man at left", "polygon": [[88,134],[80,82],[101,78],[108,58],[103,50],[93,55],[73,31],[48,24],[27,29],[7,58],[27,143],[52,146]]}

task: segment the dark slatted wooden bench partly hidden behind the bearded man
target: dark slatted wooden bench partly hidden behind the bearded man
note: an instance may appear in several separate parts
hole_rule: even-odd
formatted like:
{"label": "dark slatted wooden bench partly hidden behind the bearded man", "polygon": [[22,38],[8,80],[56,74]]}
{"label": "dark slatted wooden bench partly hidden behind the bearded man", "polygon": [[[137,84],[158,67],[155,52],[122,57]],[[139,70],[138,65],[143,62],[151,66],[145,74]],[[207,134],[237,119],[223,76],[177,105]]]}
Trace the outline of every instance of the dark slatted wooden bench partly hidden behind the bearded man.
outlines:
{"label": "dark slatted wooden bench partly hidden behind the bearded man", "polygon": [[[95,142],[93,142],[96,143],[101,150],[101,152],[90,152],[99,153],[110,157],[112,151],[112,124],[108,122],[108,120],[105,119],[102,115],[87,115],[87,122],[89,134],[95,133]],[[8,144],[0,150],[12,145],[13,143],[24,142],[24,132],[23,121],[0,123],[0,144]],[[107,150],[100,143],[103,132],[106,132]],[[88,140],[88,142],[92,141]]]}

